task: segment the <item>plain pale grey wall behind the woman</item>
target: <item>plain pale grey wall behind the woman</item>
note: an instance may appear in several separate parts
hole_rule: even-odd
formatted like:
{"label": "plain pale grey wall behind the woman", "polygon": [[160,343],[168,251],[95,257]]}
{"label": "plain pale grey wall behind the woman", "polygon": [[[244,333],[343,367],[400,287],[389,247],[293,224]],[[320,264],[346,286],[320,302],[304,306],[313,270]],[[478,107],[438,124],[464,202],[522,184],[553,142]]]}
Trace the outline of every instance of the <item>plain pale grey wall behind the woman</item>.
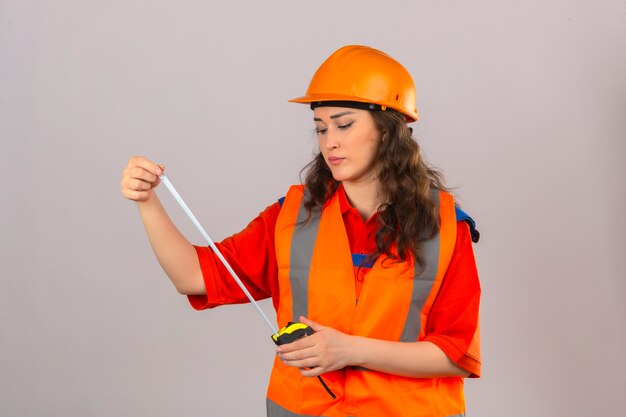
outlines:
{"label": "plain pale grey wall behind the woman", "polygon": [[269,332],[177,295],[121,170],[164,163],[214,238],[240,230],[312,155],[286,100],[349,43],[414,75],[482,232],[469,415],[623,412],[623,0],[0,0],[0,415],[264,415]]}

